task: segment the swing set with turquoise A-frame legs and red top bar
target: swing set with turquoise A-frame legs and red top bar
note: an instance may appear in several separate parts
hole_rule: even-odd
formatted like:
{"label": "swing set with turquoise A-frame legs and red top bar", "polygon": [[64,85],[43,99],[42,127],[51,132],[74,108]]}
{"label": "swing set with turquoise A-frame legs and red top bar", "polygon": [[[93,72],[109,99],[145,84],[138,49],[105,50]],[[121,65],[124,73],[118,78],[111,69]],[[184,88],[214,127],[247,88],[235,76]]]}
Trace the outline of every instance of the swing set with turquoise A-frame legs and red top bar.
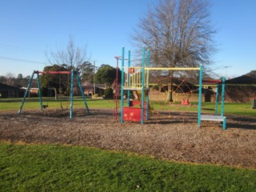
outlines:
{"label": "swing set with turquoise A-frame legs and red top bar", "polygon": [[34,70],[33,74],[30,77],[30,81],[28,82],[28,86],[26,88],[26,92],[25,92],[24,97],[22,99],[22,104],[21,104],[21,106],[20,106],[20,108],[18,110],[18,114],[22,113],[22,107],[23,107],[24,103],[26,102],[26,95],[30,91],[31,83],[32,83],[32,81],[34,79],[34,75],[36,75],[36,74],[37,74],[36,80],[37,80],[37,84],[38,84],[38,97],[39,97],[39,102],[40,102],[40,110],[43,110],[44,106],[42,105],[41,82],[40,82],[39,74],[71,74],[70,75],[70,82],[71,82],[70,83],[70,118],[73,117],[74,76],[77,79],[79,90],[80,90],[80,92],[82,94],[83,102],[84,102],[84,104],[86,106],[86,111],[87,111],[88,114],[90,114],[89,107],[87,106],[87,102],[86,102],[86,97],[85,97],[85,95],[83,93],[83,90],[82,90],[81,81],[80,81],[78,72],[76,70],[71,70],[71,71],[38,71],[38,70]]}

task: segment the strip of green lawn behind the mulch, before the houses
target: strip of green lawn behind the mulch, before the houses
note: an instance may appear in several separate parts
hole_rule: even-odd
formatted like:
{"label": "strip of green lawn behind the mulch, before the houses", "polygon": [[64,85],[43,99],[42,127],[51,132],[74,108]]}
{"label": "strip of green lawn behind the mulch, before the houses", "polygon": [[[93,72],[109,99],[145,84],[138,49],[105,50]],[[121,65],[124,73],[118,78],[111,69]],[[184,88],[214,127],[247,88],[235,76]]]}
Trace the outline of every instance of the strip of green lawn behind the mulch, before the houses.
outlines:
{"label": "strip of green lawn behind the mulch, before the houses", "polygon": [[[38,98],[27,98],[23,106],[23,110],[39,110]],[[91,99],[86,98],[87,104],[91,109],[114,109],[115,102],[114,99]],[[21,106],[22,98],[0,98],[0,110],[17,110]],[[192,107],[182,106],[180,103],[178,105],[169,105],[168,103],[161,102],[150,102],[151,106],[155,110],[185,110],[198,112],[198,103],[193,102]],[[47,105],[49,109],[69,109],[70,102],[66,100],[54,101],[54,98],[43,98],[43,105]],[[126,106],[126,101],[125,101]],[[81,97],[74,98],[74,109],[85,107],[84,102]],[[220,113],[221,104],[218,104],[218,113]],[[212,102],[203,102],[202,103],[202,113],[214,113],[214,104]],[[225,114],[235,114],[235,115],[248,115],[255,116],[256,110],[252,109],[251,103],[225,103]]]}

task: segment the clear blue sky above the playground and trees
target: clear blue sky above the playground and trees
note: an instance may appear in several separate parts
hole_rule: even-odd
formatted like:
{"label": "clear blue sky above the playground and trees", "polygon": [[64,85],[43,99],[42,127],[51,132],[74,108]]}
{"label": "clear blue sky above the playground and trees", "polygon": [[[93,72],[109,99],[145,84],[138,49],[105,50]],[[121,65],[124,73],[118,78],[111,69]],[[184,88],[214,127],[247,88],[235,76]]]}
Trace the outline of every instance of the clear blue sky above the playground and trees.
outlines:
{"label": "clear blue sky above the playground and trees", "polygon": [[[32,74],[49,65],[46,51],[66,46],[70,35],[87,46],[90,61],[116,65],[122,46],[134,50],[130,34],[157,0],[0,1],[0,75]],[[256,70],[256,0],[212,0],[218,33],[216,73],[237,77]]]}

